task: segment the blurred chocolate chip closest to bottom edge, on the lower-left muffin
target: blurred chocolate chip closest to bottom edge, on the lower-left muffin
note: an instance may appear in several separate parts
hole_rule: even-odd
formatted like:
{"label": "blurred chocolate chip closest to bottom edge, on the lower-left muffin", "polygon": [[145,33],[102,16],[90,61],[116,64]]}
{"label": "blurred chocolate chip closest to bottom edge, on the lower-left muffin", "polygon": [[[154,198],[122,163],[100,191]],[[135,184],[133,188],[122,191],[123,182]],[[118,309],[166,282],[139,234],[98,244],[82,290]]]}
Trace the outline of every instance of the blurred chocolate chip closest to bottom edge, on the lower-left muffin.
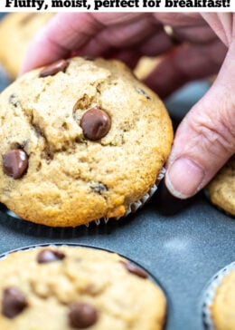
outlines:
{"label": "blurred chocolate chip closest to bottom edge, on the lower-left muffin", "polygon": [[86,329],[98,320],[98,312],[94,306],[85,303],[72,303],[70,306],[71,326]]}

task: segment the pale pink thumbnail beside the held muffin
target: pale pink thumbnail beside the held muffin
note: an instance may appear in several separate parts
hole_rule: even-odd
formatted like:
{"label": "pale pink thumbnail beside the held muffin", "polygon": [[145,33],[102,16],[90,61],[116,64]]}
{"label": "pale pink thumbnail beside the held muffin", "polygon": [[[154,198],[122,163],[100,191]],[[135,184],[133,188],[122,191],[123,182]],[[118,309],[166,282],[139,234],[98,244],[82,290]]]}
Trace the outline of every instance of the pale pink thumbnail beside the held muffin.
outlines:
{"label": "pale pink thumbnail beside the held muffin", "polygon": [[165,185],[179,199],[192,197],[201,189],[204,171],[193,160],[179,158],[166,171]]}

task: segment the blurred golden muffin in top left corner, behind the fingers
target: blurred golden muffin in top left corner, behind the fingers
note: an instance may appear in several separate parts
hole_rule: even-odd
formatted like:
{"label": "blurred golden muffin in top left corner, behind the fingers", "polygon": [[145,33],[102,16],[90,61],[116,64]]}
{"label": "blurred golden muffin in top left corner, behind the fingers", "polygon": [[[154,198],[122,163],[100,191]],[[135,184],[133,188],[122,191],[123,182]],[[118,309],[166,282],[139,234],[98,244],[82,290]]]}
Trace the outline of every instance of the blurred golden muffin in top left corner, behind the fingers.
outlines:
{"label": "blurred golden muffin in top left corner, behind the fingers", "polygon": [[52,13],[12,13],[0,22],[0,63],[16,78],[34,34],[46,24]]}

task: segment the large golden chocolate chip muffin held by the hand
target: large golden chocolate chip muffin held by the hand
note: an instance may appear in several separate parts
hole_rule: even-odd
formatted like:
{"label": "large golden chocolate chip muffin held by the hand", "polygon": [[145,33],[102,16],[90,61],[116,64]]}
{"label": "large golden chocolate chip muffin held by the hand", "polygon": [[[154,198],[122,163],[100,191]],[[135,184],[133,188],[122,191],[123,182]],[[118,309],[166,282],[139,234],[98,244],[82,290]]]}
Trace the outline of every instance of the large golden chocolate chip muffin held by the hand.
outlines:
{"label": "large golden chocolate chip muffin held by the hand", "polygon": [[145,202],[173,141],[163,102],[123,63],[102,59],[26,73],[0,95],[0,125],[0,201],[53,227]]}

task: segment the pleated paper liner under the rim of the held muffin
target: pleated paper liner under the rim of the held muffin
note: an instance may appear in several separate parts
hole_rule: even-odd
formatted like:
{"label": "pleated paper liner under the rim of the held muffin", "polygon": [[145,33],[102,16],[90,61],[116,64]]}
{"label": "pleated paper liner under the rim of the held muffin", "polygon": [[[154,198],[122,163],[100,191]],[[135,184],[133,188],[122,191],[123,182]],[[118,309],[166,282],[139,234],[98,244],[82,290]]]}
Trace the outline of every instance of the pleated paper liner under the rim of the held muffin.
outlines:
{"label": "pleated paper liner under the rim of the held muffin", "polygon": [[[127,218],[127,216],[130,213],[136,213],[136,211],[138,209],[141,209],[146,204],[146,202],[154,196],[155,191],[156,191],[156,189],[157,189],[160,181],[164,179],[164,174],[165,174],[165,169],[162,168],[162,170],[160,170],[160,172],[159,172],[159,174],[157,176],[157,179],[155,181],[155,184],[146,192],[146,194],[141,199],[138,199],[135,202],[130,203],[129,206],[128,206],[128,208],[127,208],[127,210],[126,210],[126,212],[125,212],[125,214],[123,216],[117,217],[117,218],[112,218],[112,219],[119,220],[120,218]],[[10,217],[24,220],[23,218],[18,217],[10,209],[6,209],[5,208],[4,212],[8,216],[10,216]],[[86,226],[87,228],[89,228],[89,224],[92,224],[92,223],[95,223],[97,226],[99,226],[101,223],[107,224],[109,219],[110,218],[98,218],[96,220],[92,220],[89,223],[84,224],[84,226]],[[31,222],[31,221],[27,221],[27,222]],[[41,225],[39,225],[39,226],[41,226]],[[79,225],[78,227],[80,227],[80,226],[82,226],[82,225]],[[50,227],[50,226],[48,226],[48,227]]]}

